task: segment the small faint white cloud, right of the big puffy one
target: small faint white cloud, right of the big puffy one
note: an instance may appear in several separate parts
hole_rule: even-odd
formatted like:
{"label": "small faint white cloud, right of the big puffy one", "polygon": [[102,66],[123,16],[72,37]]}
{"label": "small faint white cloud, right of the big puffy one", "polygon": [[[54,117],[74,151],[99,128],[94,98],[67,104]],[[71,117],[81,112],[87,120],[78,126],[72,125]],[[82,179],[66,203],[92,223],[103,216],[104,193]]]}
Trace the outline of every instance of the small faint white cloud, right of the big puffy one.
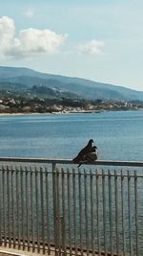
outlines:
{"label": "small faint white cloud, right of the big puffy one", "polygon": [[83,54],[96,55],[102,53],[104,46],[104,42],[92,39],[78,45],[78,50]]}

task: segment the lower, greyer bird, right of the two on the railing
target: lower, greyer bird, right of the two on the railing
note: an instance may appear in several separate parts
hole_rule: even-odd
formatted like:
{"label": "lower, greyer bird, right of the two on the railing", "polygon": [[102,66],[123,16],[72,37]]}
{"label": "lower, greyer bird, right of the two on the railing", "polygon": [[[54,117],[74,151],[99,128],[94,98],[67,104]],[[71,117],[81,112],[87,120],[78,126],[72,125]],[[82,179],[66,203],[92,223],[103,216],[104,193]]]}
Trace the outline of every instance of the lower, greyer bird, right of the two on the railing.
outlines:
{"label": "lower, greyer bird, right of the two on the railing", "polygon": [[79,163],[79,165],[77,166],[77,168],[79,168],[82,164],[84,163],[91,163],[95,160],[97,160],[97,154],[98,154],[98,149],[96,146],[93,146],[91,151],[88,152],[85,156],[84,159],[82,160],[81,163]]}

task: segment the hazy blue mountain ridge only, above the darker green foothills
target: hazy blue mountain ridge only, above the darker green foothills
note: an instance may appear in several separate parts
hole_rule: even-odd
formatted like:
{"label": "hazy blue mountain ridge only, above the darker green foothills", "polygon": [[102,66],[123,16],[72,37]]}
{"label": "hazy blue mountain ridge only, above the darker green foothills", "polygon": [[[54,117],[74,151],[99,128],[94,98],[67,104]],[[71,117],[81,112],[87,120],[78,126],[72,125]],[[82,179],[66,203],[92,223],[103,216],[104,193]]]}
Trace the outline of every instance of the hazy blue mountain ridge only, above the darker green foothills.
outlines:
{"label": "hazy blue mountain ridge only, above the darker green foothills", "polygon": [[42,73],[27,67],[0,66],[0,82],[22,84],[27,88],[45,86],[87,100],[143,101],[142,91],[106,82]]}

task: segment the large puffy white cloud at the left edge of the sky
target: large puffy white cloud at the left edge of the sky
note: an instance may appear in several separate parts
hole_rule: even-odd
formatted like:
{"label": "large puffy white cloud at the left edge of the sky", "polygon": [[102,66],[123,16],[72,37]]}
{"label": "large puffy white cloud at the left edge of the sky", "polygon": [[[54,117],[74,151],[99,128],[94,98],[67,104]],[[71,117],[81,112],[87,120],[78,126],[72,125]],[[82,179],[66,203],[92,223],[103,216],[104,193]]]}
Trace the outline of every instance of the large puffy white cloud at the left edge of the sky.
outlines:
{"label": "large puffy white cloud at the left edge of the sky", "polygon": [[15,35],[14,21],[7,16],[0,18],[0,54],[12,58],[30,57],[41,53],[56,53],[67,35],[50,30],[29,28]]}

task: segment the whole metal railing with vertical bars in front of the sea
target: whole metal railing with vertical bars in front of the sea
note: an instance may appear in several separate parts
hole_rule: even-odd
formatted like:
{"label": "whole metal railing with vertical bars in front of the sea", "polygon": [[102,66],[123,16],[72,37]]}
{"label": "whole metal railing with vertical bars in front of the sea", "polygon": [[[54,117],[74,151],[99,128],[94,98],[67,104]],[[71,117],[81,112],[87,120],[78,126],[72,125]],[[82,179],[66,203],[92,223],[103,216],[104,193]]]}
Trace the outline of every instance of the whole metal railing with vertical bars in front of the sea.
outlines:
{"label": "whole metal railing with vertical bars in front of the sea", "polygon": [[0,158],[0,244],[143,255],[143,162]]}

